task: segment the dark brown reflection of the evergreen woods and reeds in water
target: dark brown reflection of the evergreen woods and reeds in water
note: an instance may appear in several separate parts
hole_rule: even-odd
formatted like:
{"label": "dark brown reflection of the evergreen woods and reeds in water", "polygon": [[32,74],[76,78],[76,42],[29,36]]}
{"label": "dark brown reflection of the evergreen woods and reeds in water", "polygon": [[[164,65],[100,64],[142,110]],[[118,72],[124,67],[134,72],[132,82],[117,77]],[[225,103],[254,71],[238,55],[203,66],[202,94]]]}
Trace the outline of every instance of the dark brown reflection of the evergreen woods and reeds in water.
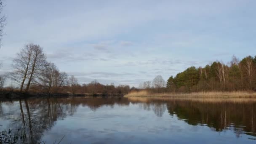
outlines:
{"label": "dark brown reflection of the evergreen woods and reeds in water", "polygon": [[[220,98],[129,98],[133,103],[141,103],[144,108],[155,105],[154,112],[162,116],[165,110],[172,117],[184,120],[189,125],[207,125],[214,131],[232,130],[237,137],[245,133],[256,136],[256,99]],[[161,104],[161,106],[160,106]],[[157,109],[157,110],[156,110]]]}

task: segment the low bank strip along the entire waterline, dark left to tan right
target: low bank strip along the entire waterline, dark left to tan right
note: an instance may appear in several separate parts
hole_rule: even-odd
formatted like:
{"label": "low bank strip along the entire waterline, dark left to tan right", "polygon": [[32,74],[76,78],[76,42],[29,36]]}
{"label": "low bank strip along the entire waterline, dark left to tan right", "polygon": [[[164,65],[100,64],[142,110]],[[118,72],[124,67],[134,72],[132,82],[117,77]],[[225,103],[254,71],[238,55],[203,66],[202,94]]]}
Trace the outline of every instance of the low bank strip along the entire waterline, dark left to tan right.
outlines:
{"label": "low bank strip along the entire waterline, dark left to tan right", "polygon": [[166,97],[166,98],[256,98],[256,92],[249,91],[212,91],[192,93],[150,93],[148,91],[131,91],[128,94],[119,93],[21,93],[18,91],[0,92],[0,100],[13,100],[25,98],[47,98],[47,97]]}

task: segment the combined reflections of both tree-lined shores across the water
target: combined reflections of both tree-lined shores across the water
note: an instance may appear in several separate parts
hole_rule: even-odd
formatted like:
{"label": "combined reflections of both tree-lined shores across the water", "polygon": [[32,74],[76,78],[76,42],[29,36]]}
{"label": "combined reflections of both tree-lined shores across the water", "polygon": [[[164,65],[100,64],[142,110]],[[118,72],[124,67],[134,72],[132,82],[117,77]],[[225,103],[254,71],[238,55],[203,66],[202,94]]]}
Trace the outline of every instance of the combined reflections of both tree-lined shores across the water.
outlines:
{"label": "combined reflections of both tree-lined shores across the water", "polygon": [[[116,105],[118,107],[115,107]],[[97,112],[102,111],[100,108],[105,106],[112,110],[120,109],[121,113],[132,111],[125,107],[138,106],[140,109],[153,112],[156,117],[162,119],[176,118],[189,125],[203,125],[218,132],[233,131],[237,138],[242,134],[253,136],[250,139],[256,136],[255,99],[49,98],[2,101],[0,102],[0,125],[3,126],[0,126],[0,130],[11,128],[12,133],[19,136],[16,139],[17,143],[39,143],[47,141],[47,139],[42,139],[43,133],[51,131],[57,121],[70,119],[78,111],[83,114],[83,107]],[[144,112],[141,112],[141,115]],[[168,112],[169,117],[163,117],[165,112]],[[83,118],[85,115],[76,117]],[[96,120],[95,117],[91,119]],[[113,115],[101,113],[102,119],[98,120],[103,121],[104,118],[109,117]],[[119,115],[115,117],[123,118]],[[130,117],[138,121],[136,115],[130,115]],[[140,120],[147,122],[150,118],[149,116],[142,117]],[[119,127],[126,125],[125,122],[120,121],[117,124]],[[133,126],[139,127],[140,125]],[[83,125],[81,128],[85,129]],[[117,129],[112,131],[117,131]],[[63,136],[65,133],[59,134]]]}

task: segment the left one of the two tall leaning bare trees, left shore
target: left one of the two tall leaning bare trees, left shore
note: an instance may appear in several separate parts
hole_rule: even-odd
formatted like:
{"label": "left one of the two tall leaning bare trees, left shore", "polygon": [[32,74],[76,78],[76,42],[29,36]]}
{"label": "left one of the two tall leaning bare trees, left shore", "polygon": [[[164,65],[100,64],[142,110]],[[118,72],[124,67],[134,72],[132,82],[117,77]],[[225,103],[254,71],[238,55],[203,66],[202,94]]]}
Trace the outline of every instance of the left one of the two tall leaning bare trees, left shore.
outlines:
{"label": "left one of the two tall leaning bare trees, left shore", "polygon": [[24,48],[17,53],[16,58],[13,60],[13,72],[10,72],[8,75],[11,80],[20,85],[20,91],[23,90],[24,83],[29,74],[28,71],[31,64],[32,51],[32,44],[25,45]]}

